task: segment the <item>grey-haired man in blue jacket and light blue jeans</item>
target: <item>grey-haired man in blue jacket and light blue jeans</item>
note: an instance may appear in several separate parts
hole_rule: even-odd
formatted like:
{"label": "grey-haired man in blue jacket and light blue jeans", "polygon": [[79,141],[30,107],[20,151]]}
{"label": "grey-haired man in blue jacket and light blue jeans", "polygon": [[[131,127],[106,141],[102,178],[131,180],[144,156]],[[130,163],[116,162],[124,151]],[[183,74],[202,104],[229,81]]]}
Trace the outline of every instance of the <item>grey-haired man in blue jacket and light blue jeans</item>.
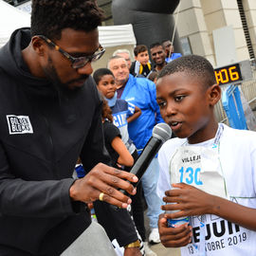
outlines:
{"label": "grey-haired man in blue jacket and light blue jeans", "polygon": [[[145,78],[135,78],[129,73],[129,68],[124,58],[119,56],[112,57],[108,61],[108,68],[115,76],[118,99],[133,103],[141,109],[142,113],[138,119],[128,124],[129,135],[140,154],[150,137],[152,137],[155,124],[163,122],[156,103],[155,83]],[[143,192],[148,205],[147,215],[151,228],[150,243],[160,243],[157,221],[158,215],[162,210],[160,210],[161,200],[156,194],[158,172],[158,163],[155,157],[141,178]]]}

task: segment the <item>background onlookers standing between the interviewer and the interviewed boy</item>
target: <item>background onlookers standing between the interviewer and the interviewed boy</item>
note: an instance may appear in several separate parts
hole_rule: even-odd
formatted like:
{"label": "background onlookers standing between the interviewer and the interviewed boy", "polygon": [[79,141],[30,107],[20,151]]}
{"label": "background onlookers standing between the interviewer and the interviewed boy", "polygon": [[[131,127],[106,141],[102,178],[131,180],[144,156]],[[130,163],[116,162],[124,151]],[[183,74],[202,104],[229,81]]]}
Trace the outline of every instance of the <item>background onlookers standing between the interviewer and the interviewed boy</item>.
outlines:
{"label": "background onlookers standing between the interviewer and the interviewed boy", "polygon": [[[170,54],[170,46],[168,45],[169,48],[165,46],[165,42],[166,40],[162,45],[159,43],[152,45],[151,54],[147,46],[136,46],[134,62],[132,62],[133,57],[130,51],[120,48],[108,60],[107,67],[101,67],[93,73],[93,79],[103,97],[102,122],[106,149],[111,156],[112,166],[126,172],[131,171],[131,167],[152,137],[155,124],[164,121],[156,102],[155,81],[160,69],[168,63],[166,60],[167,54]],[[150,57],[154,61],[151,62]],[[170,56],[168,58],[170,62]],[[160,243],[157,222],[158,216],[163,211],[161,210],[162,201],[156,193],[158,176],[159,168],[157,155],[155,155],[155,159],[137,185],[136,195],[131,196],[130,213],[138,232],[140,251],[142,255],[148,256],[155,255],[148,246],[148,242]],[[99,202],[94,205],[99,205]],[[145,207],[150,226],[148,238],[144,221]],[[102,215],[99,212],[100,210],[96,209],[96,216],[102,227],[108,227],[101,221]],[[101,212],[105,214],[106,210]],[[106,231],[109,233],[107,228]],[[111,241],[117,239],[111,234],[108,236]]]}

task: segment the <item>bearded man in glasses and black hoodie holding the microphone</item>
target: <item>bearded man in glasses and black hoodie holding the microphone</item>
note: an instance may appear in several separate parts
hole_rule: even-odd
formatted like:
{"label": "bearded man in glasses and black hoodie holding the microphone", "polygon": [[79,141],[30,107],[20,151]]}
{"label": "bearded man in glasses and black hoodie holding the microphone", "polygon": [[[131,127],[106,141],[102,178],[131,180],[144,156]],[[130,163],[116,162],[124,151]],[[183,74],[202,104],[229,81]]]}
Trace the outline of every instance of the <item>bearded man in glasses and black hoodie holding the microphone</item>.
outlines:
{"label": "bearded man in glasses and black hoodie holding the microphone", "polygon": [[[131,199],[118,188],[135,194],[137,177],[105,165],[90,77],[104,52],[101,17],[93,0],[34,0],[31,29],[0,50],[1,256],[115,255],[86,203],[125,209]],[[79,156],[87,174],[74,180]]]}

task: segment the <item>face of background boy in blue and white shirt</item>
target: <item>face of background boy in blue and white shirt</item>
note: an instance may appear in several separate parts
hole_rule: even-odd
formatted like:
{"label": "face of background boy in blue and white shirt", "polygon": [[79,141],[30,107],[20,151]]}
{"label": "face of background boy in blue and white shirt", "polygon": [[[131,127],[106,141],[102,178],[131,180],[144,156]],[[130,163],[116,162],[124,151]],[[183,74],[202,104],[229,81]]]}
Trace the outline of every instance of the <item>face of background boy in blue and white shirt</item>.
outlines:
{"label": "face of background boy in blue and white shirt", "polygon": [[98,84],[98,89],[106,99],[112,99],[117,90],[117,86],[112,75],[104,75]]}

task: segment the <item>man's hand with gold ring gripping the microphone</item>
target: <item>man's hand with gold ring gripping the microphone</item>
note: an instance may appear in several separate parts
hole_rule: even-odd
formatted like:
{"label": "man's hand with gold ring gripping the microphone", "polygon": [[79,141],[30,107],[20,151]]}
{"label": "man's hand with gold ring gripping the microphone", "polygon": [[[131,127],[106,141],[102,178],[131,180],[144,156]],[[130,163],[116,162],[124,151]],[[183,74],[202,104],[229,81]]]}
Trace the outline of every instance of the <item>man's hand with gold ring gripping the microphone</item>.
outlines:
{"label": "man's hand with gold ring gripping the microphone", "polygon": [[73,183],[69,190],[70,198],[74,201],[91,203],[98,200],[103,192],[102,201],[127,208],[132,202],[131,198],[118,191],[122,189],[132,195],[136,193],[134,186],[127,180],[137,182],[137,176],[99,163],[83,178]]}

